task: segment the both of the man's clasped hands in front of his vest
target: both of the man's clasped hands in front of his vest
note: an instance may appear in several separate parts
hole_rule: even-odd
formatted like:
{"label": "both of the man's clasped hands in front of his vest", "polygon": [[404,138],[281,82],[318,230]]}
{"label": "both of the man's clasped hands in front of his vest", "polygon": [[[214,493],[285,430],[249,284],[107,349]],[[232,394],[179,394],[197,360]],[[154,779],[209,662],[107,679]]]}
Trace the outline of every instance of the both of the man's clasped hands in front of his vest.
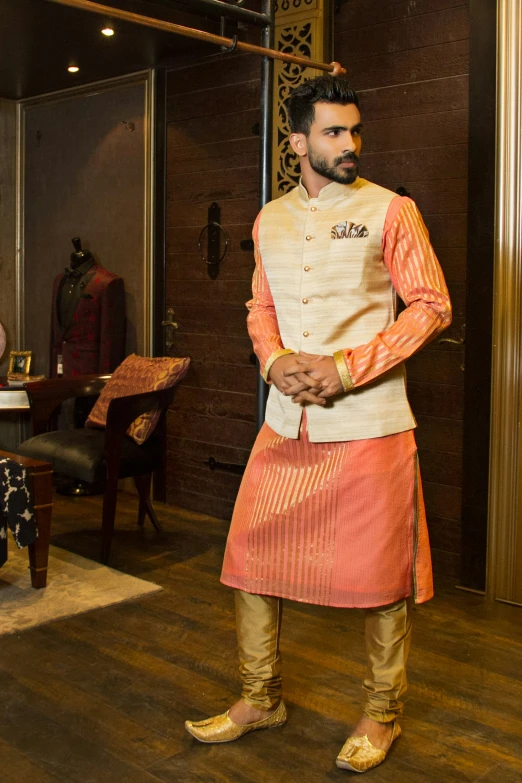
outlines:
{"label": "both of the man's clasped hands in front of his vest", "polygon": [[333,356],[285,354],[275,360],[268,377],[292,402],[325,405],[328,397],[343,391]]}

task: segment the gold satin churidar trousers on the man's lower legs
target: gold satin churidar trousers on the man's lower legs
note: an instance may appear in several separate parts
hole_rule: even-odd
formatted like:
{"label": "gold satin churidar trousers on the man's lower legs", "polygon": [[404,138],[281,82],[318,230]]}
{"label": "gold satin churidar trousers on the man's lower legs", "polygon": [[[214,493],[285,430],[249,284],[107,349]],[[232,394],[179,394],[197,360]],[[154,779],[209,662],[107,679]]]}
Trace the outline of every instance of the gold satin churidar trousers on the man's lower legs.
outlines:
{"label": "gold satin churidar trousers on the man's lower legs", "polygon": [[[252,707],[270,710],[281,700],[282,599],[235,591],[236,626],[242,698]],[[411,638],[411,599],[366,609],[368,673],[364,713],[388,723],[402,711],[406,661]]]}

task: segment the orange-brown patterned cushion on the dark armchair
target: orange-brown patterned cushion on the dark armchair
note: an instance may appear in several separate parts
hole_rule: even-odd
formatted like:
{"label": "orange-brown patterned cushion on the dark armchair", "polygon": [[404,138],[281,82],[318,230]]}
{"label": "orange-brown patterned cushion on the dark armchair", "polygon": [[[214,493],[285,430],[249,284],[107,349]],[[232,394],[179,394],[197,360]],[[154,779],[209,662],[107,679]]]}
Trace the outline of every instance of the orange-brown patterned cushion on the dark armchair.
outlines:
{"label": "orange-brown patterned cushion on the dark armchair", "polygon": [[[186,358],[171,359],[168,356],[161,356],[157,359],[149,359],[146,356],[131,354],[116,368],[105,384],[85,426],[105,427],[109,403],[113,397],[125,397],[174,386],[186,374],[189,364],[190,359]],[[159,417],[159,411],[138,416],[130,425],[127,434],[141,445],[154,432]]]}

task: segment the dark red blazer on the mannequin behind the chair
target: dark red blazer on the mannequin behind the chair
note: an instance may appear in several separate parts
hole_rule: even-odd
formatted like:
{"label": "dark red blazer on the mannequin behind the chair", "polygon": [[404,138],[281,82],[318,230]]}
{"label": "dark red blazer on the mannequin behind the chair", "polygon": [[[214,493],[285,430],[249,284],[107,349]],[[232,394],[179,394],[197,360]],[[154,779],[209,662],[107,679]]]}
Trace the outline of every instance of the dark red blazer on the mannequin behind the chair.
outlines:
{"label": "dark red blazer on the mannequin behind the chair", "polygon": [[83,275],[68,323],[60,324],[59,295],[64,274],[55,278],[51,315],[51,378],[110,373],[125,356],[123,278],[93,264]]}

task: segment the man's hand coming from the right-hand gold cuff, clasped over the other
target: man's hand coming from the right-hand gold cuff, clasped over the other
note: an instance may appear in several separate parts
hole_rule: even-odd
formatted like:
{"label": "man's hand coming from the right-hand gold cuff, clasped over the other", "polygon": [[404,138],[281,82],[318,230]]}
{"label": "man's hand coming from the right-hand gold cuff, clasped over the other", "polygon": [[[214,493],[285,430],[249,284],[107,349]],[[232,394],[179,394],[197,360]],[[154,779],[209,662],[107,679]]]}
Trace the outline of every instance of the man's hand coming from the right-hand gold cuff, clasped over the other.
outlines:
{"label": "man's hand coming from the right-hand gold cuff, clasped over the other", "polygon": [[324,405],[327,397],[335,397],[336,394],[343,391],[333,356],[318,356],[300,351],[297,356],[289,355],[287,358],[293,359],[292,362],[287,363],[288,366],[284,370],[284,375],[288,380],[295,378],[297,381],[298,375],[305,373],[305,377],[314,380],[320,387],[320,391],[317,391],[316,387],[315,393],[313,393],[310,389],[298,388],[297,382],[292,383],[285,392],[292,395],[292,402],[301,404],[318,402]]}

